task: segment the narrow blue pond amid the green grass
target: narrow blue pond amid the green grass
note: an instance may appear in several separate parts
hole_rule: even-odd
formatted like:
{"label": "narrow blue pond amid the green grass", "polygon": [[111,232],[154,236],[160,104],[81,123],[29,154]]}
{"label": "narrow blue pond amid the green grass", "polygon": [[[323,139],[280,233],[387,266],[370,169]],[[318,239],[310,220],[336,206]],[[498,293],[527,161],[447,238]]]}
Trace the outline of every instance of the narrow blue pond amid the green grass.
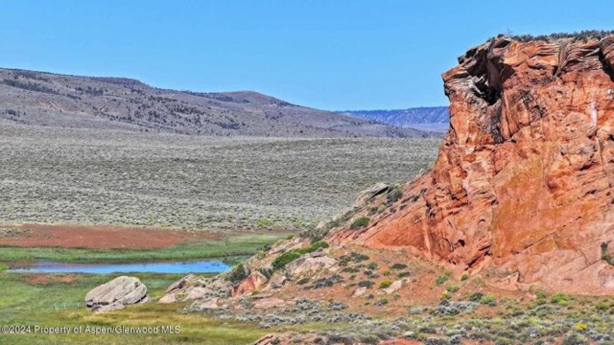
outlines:
{"label": "narrow blue pond amid the green grass", "polygon": [[31,273],[220,273],[230,269],[227,263],[214,260],[130,263],[12,262],[9,272]]}

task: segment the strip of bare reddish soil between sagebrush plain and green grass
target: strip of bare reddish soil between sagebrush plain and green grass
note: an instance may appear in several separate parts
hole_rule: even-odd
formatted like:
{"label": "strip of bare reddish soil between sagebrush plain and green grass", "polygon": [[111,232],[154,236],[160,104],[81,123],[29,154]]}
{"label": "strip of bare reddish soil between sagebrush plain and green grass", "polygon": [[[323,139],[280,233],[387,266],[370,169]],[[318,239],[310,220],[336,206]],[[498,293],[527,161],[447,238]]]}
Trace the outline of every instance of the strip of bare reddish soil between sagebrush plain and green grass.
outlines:
{"label": "strip of bare reddish soil between sagebrush plain and green grass", "polygon": [[155,249],[188,241],[220,238],[217,234],[205,232],[112,225],[23,224],[0,225],[0,228],[29,230],[0,237],[0,245],[16,247]]}

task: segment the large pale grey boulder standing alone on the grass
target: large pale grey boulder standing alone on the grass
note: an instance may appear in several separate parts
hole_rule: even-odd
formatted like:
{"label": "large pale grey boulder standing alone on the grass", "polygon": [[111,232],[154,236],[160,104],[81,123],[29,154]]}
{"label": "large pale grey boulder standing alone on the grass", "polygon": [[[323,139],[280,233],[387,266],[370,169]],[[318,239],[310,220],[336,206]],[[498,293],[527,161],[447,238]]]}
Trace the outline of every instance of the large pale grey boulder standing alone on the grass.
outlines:
{"label": "large pale grey boulder standing alone on the grass", "polygon": [[99,285],[85,295],[85,304],[95,312],[122,309],[127,304],[149,302],[147,287],[137,277],[121,276]]}

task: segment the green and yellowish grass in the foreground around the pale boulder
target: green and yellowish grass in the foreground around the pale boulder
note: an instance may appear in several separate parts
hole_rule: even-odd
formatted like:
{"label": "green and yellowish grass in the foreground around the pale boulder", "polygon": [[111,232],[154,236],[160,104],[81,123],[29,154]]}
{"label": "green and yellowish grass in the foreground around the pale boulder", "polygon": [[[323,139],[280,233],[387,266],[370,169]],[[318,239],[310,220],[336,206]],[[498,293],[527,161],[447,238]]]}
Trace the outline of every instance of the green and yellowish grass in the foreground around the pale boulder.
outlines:
{"label": "green and yellowish grass in the foreground around the pale boulder", "polygon": [[[154,327],[179,326],[174,335],[1,335],[0,344],[247,344],[266,334],[251,324],[223,322],[201,315],[176,312],[179,304],[149,303],[117,312],[95,315],[83,302],[85,293],[115,275],[50,275],[33,282],[33,275],[0,273],[0,324],[41,327]],[[139,277],[157,300],[179,274],[131,274]],[[68,278],[67,278],[68,277]]]}

